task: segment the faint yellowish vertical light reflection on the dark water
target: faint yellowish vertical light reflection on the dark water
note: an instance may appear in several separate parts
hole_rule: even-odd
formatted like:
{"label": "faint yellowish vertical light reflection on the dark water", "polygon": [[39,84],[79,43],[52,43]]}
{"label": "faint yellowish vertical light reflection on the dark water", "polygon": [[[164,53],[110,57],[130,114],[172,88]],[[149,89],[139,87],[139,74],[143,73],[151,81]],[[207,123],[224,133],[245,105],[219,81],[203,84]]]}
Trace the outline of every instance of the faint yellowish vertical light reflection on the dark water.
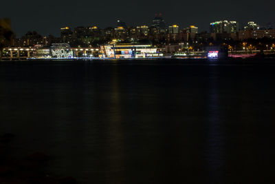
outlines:
{"label": "faint yellowish vertical light reflection on the dark water", "polygon": [[125,171],[125,153],[124,153],[124,135],[122,127],[122,104],[120,94],[120,84],[118,79],[118,68],[114,67],[113,79],[111,79],[111,101],[109,117],[109,125],[107,125],[107,143],[106,153],[107,170],[106,178],[109,178],[111,183],[127,183],[124,176]]}

